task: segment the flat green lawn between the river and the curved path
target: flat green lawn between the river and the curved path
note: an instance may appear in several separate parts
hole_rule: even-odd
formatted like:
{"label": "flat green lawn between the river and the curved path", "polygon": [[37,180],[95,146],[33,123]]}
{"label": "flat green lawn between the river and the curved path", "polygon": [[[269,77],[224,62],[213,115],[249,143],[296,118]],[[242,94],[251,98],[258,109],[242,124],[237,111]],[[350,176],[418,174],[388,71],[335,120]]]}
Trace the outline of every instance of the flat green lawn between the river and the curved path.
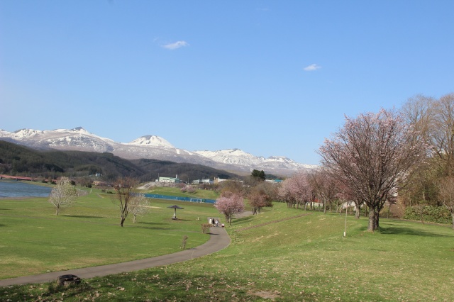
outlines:
{"label": "flat green lawn between the river and the curved path", "polygon": [[[93,189],[58,216],[48,198],[0,199],[0,279],[165,255],[184,235],[195,247],[209,240],[201,223],[217,215],[209,204],[150,199],[148,213],[136,223],[130,213],[121,228],[113,197]],[[184,208],[178,220],[174,204]]]}

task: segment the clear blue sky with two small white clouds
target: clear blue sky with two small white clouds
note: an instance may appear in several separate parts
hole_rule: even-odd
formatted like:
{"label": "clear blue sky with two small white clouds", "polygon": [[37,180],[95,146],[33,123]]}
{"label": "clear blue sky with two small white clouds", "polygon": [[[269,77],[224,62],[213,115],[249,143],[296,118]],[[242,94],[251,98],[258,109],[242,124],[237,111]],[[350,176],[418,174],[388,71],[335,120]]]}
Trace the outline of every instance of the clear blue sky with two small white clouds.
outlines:
{"label": "clear blue sky with two small white clouds", "polygon": [[318,164],[356,116],[454,92],[454,1],[0,0],[0,128]]}

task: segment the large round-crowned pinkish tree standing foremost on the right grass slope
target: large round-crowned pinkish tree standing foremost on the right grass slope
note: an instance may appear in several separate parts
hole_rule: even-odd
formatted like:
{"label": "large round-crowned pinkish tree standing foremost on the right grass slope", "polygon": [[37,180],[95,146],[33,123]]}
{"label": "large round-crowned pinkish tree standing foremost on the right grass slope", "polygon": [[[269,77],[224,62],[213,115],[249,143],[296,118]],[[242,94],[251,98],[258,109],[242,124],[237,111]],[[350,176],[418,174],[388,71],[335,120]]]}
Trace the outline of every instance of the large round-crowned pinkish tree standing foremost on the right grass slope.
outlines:
{"label": "large round-crowned pinkish tree standing foremost on the right grass slope", "polygon": [[320,147],[323,167],[341,175],[350,191],[369,207],[369,225],[379,226],[379,213],[394,194],[398,181],[423,154],[423,142],[414,128],[394,111],[345,117],[345,125]]}

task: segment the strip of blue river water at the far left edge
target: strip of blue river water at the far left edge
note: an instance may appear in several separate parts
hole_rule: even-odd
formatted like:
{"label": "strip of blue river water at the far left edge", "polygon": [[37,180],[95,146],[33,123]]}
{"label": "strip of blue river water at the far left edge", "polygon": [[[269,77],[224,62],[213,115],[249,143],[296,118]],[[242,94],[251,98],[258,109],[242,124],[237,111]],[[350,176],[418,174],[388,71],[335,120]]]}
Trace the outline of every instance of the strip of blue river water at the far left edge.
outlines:
{"label": "strip of blue river water at the far left edge", "polygon": [[21,181],[0,180],[0,198],[6,197],[48,197],[50,189],[47,186],[27,184]]}

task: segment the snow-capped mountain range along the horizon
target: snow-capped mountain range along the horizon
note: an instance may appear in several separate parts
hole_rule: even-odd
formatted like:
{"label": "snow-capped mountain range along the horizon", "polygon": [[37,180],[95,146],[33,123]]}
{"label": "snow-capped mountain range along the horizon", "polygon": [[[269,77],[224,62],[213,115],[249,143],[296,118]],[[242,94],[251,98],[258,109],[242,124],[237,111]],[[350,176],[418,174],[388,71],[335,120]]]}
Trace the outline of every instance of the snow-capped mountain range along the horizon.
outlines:
{"label": "snow-capped mountain range along the horizon", "polygon": [[249,174],[253,169],[258,169],[263,170],[266,174],[291,176],[301,169],[317,167],[311,164],[300,164],[282,156],[257,157],[239,149],[188,151],[173,146],[157,135],[145,135],[128,143],[115,142],[109,138],[101,138],[89,133],[82,127],[70,130],[21,129],[14,132],[0,130],[0,140],[38,150],[110,152],[128,160],[154,159],[202,164],[238,174]]}

